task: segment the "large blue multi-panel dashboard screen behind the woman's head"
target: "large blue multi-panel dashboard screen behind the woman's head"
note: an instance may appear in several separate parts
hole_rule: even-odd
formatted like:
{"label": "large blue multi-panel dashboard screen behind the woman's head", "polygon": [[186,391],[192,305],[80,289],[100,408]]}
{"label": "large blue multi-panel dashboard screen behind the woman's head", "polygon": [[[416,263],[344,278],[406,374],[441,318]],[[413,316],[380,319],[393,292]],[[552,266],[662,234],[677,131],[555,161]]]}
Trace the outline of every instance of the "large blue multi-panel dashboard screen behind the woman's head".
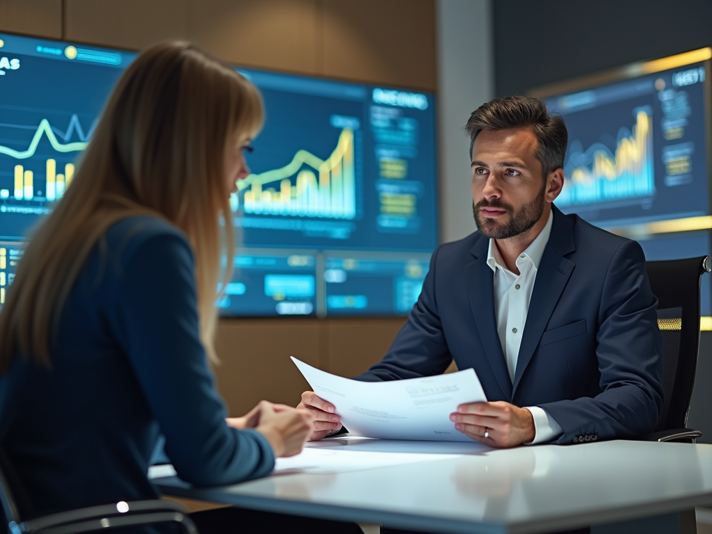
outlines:
{"label": "large blue multi-panel dashboard screen behind the woman's head", "polygon": [[[0,33],[0,241],[13,250],[70,187],[135,56]],[[231,197],[239,252],[221,314],[407,314],[438,240],[434,95],[236,70],[266,122]]]}

